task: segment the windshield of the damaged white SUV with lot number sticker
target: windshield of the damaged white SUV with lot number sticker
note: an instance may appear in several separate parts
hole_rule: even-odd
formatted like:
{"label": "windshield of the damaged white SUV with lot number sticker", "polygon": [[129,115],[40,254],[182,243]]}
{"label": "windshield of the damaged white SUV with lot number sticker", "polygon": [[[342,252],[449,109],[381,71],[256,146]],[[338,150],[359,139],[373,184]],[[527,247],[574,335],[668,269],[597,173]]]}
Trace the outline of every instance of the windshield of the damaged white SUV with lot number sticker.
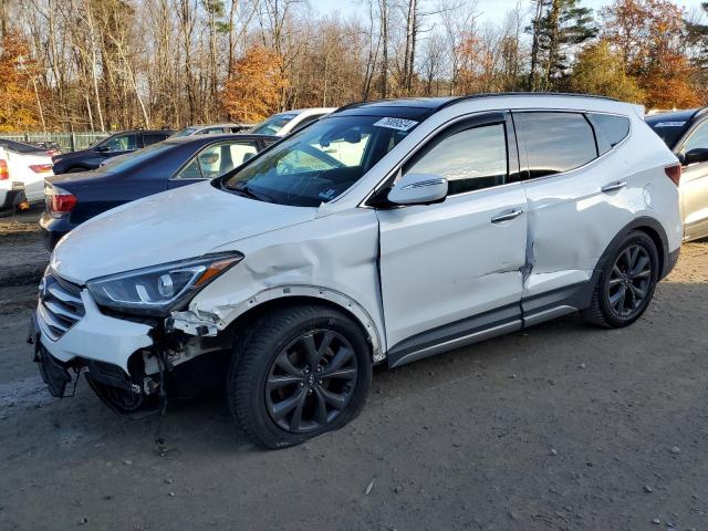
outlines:
{"label": "windshield of the damaged white SUV with lot number sticker", "polygon": [[223,183],[269,202],[319,207],[362,178],[417,122],[333,115],[275,144]]}

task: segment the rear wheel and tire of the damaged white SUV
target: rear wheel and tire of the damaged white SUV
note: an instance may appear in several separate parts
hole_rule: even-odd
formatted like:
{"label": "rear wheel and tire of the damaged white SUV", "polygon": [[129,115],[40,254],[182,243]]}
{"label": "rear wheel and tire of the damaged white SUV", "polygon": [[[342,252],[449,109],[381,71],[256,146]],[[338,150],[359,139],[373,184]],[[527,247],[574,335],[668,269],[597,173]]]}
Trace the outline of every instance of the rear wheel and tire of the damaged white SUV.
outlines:
{"label": "rear wheel and tire of the damaged white SUV", "polygon": [[634,323],[652,301],[658,272],[654,240],[642,231],[629,232],[605,261],[585,319],[608,329]]}

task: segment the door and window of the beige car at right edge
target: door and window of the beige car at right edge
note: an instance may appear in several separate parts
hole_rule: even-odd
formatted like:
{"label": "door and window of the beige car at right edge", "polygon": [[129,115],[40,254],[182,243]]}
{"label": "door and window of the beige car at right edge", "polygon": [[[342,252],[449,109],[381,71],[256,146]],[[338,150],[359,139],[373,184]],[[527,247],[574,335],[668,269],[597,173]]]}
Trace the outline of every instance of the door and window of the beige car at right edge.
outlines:
{"label": "door and window of the beige car at right edge", "polygon": [[[708,149],[708,121],[701,122],[678,149],[686,155],[691,149]],[[708,236],[708,162],[684,166],[679,185],[684,209],[684,237]]]}

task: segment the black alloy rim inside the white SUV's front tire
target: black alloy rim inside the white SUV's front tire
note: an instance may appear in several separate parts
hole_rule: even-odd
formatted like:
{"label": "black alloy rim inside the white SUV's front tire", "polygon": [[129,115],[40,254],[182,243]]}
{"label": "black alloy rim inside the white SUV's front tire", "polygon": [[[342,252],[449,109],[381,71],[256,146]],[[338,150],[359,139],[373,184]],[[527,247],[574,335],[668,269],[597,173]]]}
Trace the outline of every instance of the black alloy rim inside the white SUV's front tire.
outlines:
{"label": "black alloy rim inside the white SUV's front tire", "polygon": [[320,430],[352,399],[358,373],[351,343],[332,330],[300,335],[273,361],[266,382],[266,404],[285,431]]}

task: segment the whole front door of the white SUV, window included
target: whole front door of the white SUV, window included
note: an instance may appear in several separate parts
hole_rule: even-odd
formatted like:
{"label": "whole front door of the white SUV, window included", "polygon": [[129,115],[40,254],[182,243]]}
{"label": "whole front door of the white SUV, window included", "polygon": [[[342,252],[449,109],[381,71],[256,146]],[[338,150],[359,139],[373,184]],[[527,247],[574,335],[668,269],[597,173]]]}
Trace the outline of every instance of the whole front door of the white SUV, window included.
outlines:
{"label": "whole front door of the white SUV, window included", "polygon": [[513,135],[502,113],[444,129],[402,173],[447,178],[446,200],[377,210],[393,365],[434,344],[520,326],[527,198]]}

